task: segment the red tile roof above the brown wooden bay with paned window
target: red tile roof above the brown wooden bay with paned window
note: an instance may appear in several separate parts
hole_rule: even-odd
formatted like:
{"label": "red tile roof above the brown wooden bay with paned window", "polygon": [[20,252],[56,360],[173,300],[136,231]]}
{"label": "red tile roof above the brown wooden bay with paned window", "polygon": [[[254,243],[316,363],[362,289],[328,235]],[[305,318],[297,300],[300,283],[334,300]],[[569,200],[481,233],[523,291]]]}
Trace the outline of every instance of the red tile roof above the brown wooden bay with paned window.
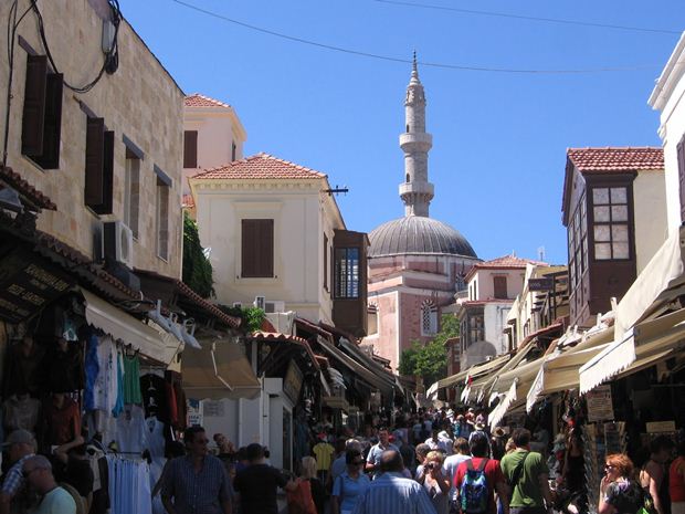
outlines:
{"label": "red tile roof above the brown wooden bay with paned window", "polygon": [[569,148],[567,156],[583,172],[664,169],[664,150],[660,147]]}

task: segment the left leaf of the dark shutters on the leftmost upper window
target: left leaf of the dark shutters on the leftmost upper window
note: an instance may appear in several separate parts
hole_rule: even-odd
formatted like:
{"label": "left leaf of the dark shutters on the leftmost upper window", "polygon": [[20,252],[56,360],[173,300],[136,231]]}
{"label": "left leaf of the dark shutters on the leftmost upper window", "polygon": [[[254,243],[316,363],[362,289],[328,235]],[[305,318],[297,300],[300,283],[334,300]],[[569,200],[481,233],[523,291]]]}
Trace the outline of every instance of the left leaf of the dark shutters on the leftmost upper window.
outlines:
{"label": "left leaf of the dark shutters on the leftmost upper window", "polygon": [[21,126],[21,153],[28,156],[39,156],[43,153],[46,77],[48,57],[29,55]]}

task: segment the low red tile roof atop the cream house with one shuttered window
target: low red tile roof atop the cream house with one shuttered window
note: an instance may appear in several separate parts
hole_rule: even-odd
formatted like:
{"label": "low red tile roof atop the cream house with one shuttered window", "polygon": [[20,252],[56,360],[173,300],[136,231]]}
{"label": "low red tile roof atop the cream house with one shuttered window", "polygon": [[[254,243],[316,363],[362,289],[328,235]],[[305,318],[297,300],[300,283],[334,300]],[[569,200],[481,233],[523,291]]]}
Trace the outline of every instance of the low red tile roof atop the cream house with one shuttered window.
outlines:
{"label": "low red tile roof atop the cream house with one shuttered window", "polygon": [[256,154],[225,166],[209,168],[191,177],[194,179],[319,179],[325,174],[268,154]]}

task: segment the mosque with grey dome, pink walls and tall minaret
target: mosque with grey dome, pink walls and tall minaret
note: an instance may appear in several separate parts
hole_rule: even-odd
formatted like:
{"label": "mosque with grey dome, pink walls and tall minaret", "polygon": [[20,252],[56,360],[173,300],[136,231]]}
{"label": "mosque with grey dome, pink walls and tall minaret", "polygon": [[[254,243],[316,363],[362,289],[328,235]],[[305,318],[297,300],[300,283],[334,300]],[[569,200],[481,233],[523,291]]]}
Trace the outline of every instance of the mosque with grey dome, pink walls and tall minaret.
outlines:
{"label": "mosque with grey dome, pink walls and tall minaret", "polygon": [[428,153],[433,138],[425,132],[425,94],[414,59],[404,101],[404,180],[400,198],[404,217],[369,233],[369,335],[365,345],[397,369],[401,353],[413,340],[426,343],[440,329],[443,307],[465,287],[464,277],[478,258],[452,227],[429,217],[434,187],[429,182]]}

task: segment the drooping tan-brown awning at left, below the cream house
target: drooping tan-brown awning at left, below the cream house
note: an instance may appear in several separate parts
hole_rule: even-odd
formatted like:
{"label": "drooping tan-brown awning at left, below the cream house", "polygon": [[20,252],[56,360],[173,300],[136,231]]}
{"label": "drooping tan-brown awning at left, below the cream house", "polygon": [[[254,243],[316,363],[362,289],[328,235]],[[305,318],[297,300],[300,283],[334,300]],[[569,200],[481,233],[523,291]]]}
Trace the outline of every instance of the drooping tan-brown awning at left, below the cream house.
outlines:
{"label": "drooping tan-brown awning at left, below the cream house", "polygon": [[201,340],[202,349],[186,348],[181,356],[183,389],[197,400],[254,399],[261,385],[247,357],[230,340]]}

